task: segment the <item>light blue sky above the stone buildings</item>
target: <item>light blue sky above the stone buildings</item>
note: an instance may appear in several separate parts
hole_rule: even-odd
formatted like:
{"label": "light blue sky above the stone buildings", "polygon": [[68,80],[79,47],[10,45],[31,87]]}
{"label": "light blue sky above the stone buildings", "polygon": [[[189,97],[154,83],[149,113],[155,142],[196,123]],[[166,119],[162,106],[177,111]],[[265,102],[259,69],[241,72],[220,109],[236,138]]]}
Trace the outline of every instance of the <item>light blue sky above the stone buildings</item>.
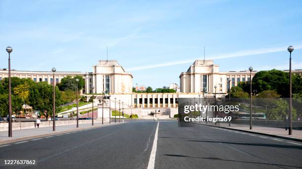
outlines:
{"label": "light blue sky above the stone buildings", "polygon": [[302,68],[301,0],[0,0],[0,68],[91,72],[116,59],[133,84],[179,84],[195,59],[220,71]]}

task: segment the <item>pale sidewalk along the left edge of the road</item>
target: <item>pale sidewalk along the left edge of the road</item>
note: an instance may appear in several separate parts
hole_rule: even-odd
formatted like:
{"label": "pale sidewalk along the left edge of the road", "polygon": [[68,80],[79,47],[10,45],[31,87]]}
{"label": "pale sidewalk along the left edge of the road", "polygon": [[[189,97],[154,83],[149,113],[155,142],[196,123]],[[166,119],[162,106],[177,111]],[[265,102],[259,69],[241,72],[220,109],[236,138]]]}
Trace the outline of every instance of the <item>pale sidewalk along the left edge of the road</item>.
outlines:
{"label": "pale sidewalk along the left edge of the road", "polygon": [[88,128],[98,128],[98,127],[103,127],[103,126],[108,126],[108,125],[117,125],[121,123],[114,123],[111,122],[104,122],[102,123],[94,123],[92,126],[91,123],[85,123],[85,124],[79,124],[78,128],[76,128],[76,125],[64,125],[64,126],[56,126],[56,131],[52,131],[52,126],[50,127],[40,127],[40,128],[32,128],[32,129],[23,129],[23,130],[13,130],[12,131],[12,136],[13,137],[8,137],[8,131],[1,131],[0,132],[0,145],[5,144],[8,142],[14,142],[14,141],[23,141],[27,139],[34,139],[34,138],[39,138],[39,137],[44,137],[44,136],[50,136],[54,134],[61,134],[61,133],[67,133],[67,132],[72,132],[72,131],[77,131],[77,130],[84,130]]}

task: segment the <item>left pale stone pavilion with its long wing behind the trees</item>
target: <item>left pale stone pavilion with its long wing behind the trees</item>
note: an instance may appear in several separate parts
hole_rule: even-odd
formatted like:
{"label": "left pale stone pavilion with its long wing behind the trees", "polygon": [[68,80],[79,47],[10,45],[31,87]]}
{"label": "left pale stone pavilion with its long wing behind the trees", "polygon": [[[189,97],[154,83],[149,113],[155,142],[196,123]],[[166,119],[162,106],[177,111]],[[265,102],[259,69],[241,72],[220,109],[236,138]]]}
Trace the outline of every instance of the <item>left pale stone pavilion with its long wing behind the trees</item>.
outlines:
{"label": "left pale stone pavilion with its long wing behind the trees", "polygon": [[[85,87],[81,90],[83,94],[92,93],[91,86],[94,86],[93,93],[102,93],[108,90],[110,93],[132,93],[131,73],[127,73],[116,60],[100,60],[92,66],[92,72],[53,72],[51,71],[17,71],[11,70],[11,77],[29,78],[34,82],[47,82],[48,84],[60,83],[66,76],[82,76],[85,80]],[[8,77],[8,70],[0,70],[0,80]]]}

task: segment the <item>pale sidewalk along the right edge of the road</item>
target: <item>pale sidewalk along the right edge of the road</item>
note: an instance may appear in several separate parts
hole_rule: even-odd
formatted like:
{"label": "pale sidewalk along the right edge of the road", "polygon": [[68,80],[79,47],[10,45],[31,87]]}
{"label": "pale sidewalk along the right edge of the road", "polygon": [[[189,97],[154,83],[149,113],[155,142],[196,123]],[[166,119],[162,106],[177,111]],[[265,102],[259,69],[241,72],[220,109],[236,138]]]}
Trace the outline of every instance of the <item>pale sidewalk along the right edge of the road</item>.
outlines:
{"label": "pale sidewalk along the right edge of the road", "polygon": [[266,135],[266,136],[272,136],[272,137],[276,137],[276,138],[302,142],[302,130],[293,130],[292,135],[288,135],[288,130],[285,130],[284,128],[263,127],[263,126],[253,125],[253,129],[250,130],[250,126],[244,125],[244,124],[232,124],[231,123],[230,127],[228,126],[228,123],[217,123],[215,125],[215,123],[212,123],[212,122],[208,122],[208,124],[206,124],[205,122],[201,122],[201,123],[197,123],[197,124],[222,127],[222,128],[227,128],[227,129],[231,129],[231,130],[237,130],[237,131],[243,131],[243,132],[249,132],[249,133],[255,133],[255,134],[262,134],[262,135]]}

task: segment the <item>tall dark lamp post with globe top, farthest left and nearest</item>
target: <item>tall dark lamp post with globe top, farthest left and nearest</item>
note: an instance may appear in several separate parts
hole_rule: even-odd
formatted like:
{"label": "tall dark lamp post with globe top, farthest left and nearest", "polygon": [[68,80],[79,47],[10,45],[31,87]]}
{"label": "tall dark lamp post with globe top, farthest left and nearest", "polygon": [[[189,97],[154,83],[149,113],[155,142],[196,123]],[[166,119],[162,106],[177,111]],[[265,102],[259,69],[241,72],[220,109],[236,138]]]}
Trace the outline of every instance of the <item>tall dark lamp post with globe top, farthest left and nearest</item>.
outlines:
{"label": "tall dark lamp post with globe top, farthest left and nearest", "polygon": [[11,117],[11,79],[10,79],[10,53],[12,52],[11,47],[6,48],[8,53],[8,137],[12,137],[12,117]]}

